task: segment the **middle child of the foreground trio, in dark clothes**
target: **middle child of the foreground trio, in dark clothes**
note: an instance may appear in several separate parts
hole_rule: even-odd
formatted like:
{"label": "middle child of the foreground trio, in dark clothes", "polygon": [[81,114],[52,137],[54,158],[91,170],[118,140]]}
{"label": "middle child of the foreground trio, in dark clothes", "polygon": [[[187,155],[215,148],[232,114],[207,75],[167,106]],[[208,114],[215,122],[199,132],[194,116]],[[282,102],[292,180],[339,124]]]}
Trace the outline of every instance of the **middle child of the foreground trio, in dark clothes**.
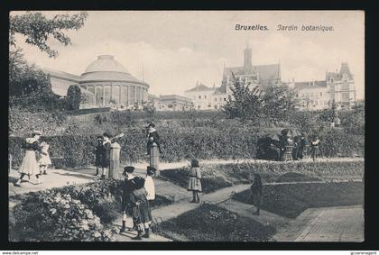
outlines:
{"label": "middle child of the foreground trio, in dark clothes", "polygon": [[137,236],[134,240],[142,240],[143,237],[149,237],[145,230],[149,228],[149,223],[152,222],[152,214],[150,211],[149,202],[147,201],[147,192],[144,188],[144,178],[134,178],[135,189],[130,195],[130,202],[133,205],[134,224],[137,227]]}

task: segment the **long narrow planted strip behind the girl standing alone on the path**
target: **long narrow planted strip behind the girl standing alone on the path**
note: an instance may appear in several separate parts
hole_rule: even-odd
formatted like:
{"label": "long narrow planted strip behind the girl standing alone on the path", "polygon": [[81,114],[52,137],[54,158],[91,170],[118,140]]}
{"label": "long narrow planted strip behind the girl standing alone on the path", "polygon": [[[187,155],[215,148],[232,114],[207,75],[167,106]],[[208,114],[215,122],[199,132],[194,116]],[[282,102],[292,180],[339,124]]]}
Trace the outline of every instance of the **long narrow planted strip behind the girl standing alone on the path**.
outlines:
{"label": "long narrow planted strip behind the girl standing alone on the path", "polygon": [[[322,179],[361,179],[365,162],[255,162],[204,165],[201,169],[203,192],[208,193],[223,187],[250,183],[253,174],[261,175],[263,182],[317,181]],[[162,170],[164,178],[181,187],[188,186],[189,168]]]}

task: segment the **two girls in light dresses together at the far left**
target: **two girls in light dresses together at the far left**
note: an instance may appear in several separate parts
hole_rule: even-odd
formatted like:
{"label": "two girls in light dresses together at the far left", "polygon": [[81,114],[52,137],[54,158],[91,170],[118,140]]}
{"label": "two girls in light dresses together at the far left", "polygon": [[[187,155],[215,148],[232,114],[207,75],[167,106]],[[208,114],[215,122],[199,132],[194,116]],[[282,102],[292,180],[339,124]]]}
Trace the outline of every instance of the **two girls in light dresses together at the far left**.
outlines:
{"label": "two girls in light dresses together at the far left", "polygon": [[32,137],[27,138],[23,143],[23,149],[25,150],[25,156],[23,157],[23,163],[19,168],[20,178],[14,183],[14,186],[21,187],[21,181],[27,175],[35,176],[36,184],[40,184],[41,175],[47,175],[46,170],[51,165],[51,159],[49,156],[49,144],[47,142],[40,142],[42,136],[41,131],[33,131]]}

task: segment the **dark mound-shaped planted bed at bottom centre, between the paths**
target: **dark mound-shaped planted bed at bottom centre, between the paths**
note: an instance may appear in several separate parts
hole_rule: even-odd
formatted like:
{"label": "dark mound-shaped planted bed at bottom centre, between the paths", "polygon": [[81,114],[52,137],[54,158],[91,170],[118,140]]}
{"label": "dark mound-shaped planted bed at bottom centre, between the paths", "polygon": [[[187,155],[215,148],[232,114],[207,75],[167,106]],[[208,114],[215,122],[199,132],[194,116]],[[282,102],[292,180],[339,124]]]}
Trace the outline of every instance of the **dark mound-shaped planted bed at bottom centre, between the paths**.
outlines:
{"label": "dark mound-shaped planted bed at bottom centre, between the paths", "polygon": [[271,241],[276,232],[271,225],[264,226],[215,205],[201,205],[164,222],[162,230],[174,241]]}

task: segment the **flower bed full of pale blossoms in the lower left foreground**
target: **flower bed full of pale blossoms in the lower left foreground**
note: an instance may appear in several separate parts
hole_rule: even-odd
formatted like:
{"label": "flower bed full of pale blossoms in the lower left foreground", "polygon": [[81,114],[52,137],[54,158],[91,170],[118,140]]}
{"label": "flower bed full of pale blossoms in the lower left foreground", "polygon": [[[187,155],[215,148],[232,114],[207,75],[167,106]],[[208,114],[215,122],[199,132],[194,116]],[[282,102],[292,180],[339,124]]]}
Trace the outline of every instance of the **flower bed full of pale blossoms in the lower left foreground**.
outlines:
{"label": "flower bed full of pale blossoms in the lower left foreground", "polygon": [[[12,210],[11,241],[114,241],[121,214],[122,182],[104,181],[52,188],[20,199]],[[156,196],[153,207],[171,201]]]}

